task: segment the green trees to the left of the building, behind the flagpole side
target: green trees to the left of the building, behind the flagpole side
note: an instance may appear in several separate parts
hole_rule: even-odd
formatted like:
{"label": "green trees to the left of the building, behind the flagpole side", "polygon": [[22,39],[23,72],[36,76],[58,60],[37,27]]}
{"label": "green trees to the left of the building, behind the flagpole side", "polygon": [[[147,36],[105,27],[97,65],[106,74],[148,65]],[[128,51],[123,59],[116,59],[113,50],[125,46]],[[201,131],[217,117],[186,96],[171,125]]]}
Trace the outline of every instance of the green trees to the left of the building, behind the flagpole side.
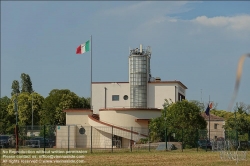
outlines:
{"label": "green trees to the left of the building, behind the flagpole side", "polygon": [[[68,89],[53,89],[47,97],[34,92],[29,75],[21,74],[19,82],[12,83],[11,98],[0,98],[0,134],[12,134],[16,120],[19,126],[32,125],[65,125],[66,116],[63,110],[69,108],[90,108],[90,98],[77,96]],[[18,110],[16,119],[15,107]]]}

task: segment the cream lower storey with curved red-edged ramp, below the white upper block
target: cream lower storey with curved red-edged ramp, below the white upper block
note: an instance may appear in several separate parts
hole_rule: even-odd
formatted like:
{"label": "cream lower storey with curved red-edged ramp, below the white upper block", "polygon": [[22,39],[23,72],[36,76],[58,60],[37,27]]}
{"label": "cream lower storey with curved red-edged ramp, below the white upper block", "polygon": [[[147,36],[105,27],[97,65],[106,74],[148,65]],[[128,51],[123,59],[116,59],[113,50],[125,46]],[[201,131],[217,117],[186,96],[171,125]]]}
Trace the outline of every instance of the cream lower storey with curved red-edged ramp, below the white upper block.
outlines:
{"label": "cream lower storey with curved red-edged ramp, below the white upper block", "polygon": [[[130,141],[148,137],[148,122],[159,117],[156,108],[108,108],[99,114],[92,110],[68,109],[66,126],[57,126],[56,147],[58,148],[111,148],[130,146]],[[81,130],[85,132],[81,134]],[[92,142],[91,142],[92,140]]]}

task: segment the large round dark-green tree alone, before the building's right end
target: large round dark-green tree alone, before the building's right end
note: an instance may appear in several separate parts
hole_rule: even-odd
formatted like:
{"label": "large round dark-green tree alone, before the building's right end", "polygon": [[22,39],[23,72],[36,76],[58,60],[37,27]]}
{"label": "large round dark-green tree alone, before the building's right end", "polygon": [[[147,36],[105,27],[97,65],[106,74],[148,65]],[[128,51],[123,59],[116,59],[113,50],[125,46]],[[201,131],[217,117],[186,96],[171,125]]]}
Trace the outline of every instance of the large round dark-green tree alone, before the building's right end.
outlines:
{"label": "large round dark-green tree alone, before the building's right end", "polygon": [[[175,139],[185,145],[196,145],[197,129],[206,129],[207,122],[201,116],[200,108],[187,100],[165,107],[169,133],[175,133]],[[193,137],[190,137],[192,135]]]}

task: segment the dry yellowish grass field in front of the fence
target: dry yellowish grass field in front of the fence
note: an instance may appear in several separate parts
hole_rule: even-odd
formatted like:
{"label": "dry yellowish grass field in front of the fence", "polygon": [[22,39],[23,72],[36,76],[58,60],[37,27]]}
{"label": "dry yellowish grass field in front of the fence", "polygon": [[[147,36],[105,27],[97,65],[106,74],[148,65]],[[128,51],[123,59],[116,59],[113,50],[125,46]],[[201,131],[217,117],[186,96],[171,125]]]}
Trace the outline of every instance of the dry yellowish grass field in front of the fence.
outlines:
{"label": "dry yellowish grass field in front of the fence", "polygon": [[[64,155],[65,156],[65,155]],[[87,153],[84,155],[75,155],[75,156],[84,156],[84,158],[79,158],[79,160],[84,161],[81,164],[75,163],[13,163],[13,165],[52,165],[52,166],[72,166],[72,165],[86,165],[86,166],[125,166],[125,165],[157,165],[157,166],[231,166],[236,165],[234,160],[222,160],[220,158],[219,152],[212,151],[192,151],[185,150],[181,151],[135,151],[135,152],[96,152],[96,153]],[[3,158],[2,158],[3,159]],[[24,159],[15,159],[15,160],[24,160]],[[28,159],[30,160],[30,159]],[[39,159],[41,160],[41,159]],[[42,159],[47,161],[53,161],[55,159]],[[56,159],[56,160],[70,160],[70,159]],[[1,163],[1,165],[12,165],[11,163]],[[239,161],[239,166],[250,166],[250,157],[247,154],[247,160]]]}

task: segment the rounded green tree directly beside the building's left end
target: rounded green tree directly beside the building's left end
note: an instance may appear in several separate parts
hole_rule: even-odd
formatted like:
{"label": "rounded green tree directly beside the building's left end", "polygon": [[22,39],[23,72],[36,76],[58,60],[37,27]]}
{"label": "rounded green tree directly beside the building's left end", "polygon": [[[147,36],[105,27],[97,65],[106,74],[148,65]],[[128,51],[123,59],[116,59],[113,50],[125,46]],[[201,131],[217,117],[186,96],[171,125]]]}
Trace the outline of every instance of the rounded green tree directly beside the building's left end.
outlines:
{"label": "rounded green tree directly beside the building's left end", "polygon": [[68,89],[53,89],[45,98],[43,111],[41,112],[41,124],[65,125],[66,114],[63,112],[69,108],[83,108],[80,97]]}

